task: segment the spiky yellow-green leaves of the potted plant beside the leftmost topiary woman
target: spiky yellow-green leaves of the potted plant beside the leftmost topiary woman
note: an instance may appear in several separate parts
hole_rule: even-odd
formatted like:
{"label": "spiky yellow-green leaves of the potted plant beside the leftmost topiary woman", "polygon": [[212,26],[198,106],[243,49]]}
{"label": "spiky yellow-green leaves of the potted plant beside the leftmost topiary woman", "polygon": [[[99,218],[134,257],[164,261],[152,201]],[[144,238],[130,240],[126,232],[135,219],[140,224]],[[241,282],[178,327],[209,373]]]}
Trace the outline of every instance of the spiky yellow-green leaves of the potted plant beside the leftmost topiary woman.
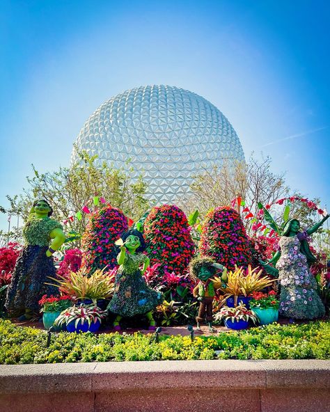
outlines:
{"label": "spiky yellow-green leaves of the potted plant beside the leftmost topiary woman", "polygon": [[105,269],[97,269],[88,276],[86,267],[82,267],[77,272],[69,271],[67,276],[51,278],[58,290],[67,296],[77,299],[91,299],[96,303],[97,299],[108,299],[114,291],[114,274],[107,274]]}

